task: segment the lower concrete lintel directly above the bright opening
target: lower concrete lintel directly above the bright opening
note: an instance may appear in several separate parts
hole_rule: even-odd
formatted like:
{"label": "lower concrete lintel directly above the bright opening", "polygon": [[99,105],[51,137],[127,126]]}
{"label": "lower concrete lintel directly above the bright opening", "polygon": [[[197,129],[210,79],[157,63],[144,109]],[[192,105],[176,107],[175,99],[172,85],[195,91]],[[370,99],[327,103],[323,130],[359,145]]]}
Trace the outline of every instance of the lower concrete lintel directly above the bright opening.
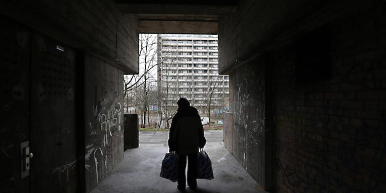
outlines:
{"label": "lower concrete lintel directly above the bright opening", "polygon": [[139,21],[139,33],[217,34],[217,22]]}

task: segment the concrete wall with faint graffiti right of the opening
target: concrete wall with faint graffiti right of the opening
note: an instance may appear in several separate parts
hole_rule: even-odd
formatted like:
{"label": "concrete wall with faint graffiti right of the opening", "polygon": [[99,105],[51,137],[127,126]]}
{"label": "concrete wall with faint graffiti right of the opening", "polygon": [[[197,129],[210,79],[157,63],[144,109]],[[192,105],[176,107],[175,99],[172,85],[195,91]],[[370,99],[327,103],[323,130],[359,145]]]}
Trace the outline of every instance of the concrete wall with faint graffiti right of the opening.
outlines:
{"label": "concrete wall with faint graffiti right of the opening", "polygon": [[232,87],[232,154],[243,167],[265,184],[265,76],[260,57],[234,70]]}

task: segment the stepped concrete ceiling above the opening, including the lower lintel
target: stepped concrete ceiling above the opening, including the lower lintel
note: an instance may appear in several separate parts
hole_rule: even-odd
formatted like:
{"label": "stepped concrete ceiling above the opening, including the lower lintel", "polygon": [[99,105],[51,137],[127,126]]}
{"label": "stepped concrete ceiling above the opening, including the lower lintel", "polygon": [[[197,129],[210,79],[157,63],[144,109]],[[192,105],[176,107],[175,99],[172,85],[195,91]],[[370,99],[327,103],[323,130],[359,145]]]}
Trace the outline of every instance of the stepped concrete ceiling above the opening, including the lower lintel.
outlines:
{"label": "stepped concrete ceiling above the opening, including the lower lintel", "polygon": [[219,15],[238,1],[117,1],[124,14],[137,14],[140,33],[217,34]]}

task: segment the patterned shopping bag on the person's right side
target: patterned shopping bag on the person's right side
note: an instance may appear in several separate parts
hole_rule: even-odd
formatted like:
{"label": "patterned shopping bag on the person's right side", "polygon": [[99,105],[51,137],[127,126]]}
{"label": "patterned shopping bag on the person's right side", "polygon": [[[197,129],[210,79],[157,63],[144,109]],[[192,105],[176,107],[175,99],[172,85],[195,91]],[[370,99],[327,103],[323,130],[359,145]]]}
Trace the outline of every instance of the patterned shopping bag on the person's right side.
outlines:
{"label": "patterned shopping bag on the person's right side", "polygon": [[201,149],[197,153],[197,179],[213,179],[212,161],[207,152]]}

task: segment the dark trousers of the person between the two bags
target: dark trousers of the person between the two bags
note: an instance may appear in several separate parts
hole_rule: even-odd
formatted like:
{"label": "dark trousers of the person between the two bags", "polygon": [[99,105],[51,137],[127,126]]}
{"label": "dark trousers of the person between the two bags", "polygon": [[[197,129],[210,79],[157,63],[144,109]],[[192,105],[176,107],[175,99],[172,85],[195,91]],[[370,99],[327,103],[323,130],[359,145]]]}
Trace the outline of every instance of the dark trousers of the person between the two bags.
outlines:
{"label": "dark trousers of the person between the two bags", "polygon": [[186,177],[186,156],[187,156],[187,185],[197,185],[197,153],[188,155],[179,155],[178,160],[178,186],[185,187]]}

